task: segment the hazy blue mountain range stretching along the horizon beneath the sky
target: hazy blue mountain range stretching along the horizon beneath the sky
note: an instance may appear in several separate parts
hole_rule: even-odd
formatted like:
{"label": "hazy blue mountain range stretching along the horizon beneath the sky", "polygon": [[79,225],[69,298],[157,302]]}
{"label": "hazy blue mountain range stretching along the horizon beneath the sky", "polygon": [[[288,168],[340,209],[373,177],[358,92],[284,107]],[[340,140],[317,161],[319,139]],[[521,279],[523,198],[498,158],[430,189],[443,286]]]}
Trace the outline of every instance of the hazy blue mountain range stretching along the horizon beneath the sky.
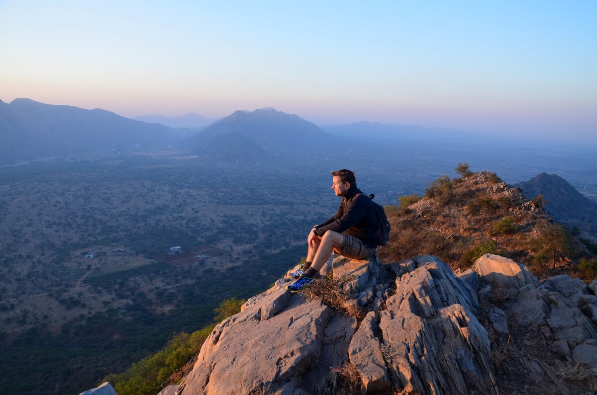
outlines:
{"label": "hazy blue mountain range stretching along the horizon beneath the sky", "polygon": [[[199,125],[202,127],[195,127]],[[174,146],[180,150],[217,161],[254,162],[280,155],[362,150],[367,147],[364,141],[464,140],[472,135],[376,122],[320,128],[272,107],[239,110],[213,121],[196,113],[178,118],[150,115],[128,119],[106,110],[57,106],[27,98],[10,104],[0,101],[0,163],[121,147],[164,149],[175,141],[179,141]]]}

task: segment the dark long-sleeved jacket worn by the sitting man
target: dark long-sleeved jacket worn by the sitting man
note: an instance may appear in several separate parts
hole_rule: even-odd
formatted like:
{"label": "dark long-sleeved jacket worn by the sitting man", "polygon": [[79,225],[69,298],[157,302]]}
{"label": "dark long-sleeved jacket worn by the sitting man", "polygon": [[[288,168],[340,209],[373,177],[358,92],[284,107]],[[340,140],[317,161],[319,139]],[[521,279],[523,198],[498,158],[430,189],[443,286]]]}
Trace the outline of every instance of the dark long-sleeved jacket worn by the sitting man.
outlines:
{"label": "dark long-sleeved jacket worn by the sitting man", "polygon": [[[360,195],[355,198],[358,193]],[[356,186],[351,186],[342,198],[336,214],[316,226],[315,234],[323,236],[328,230],[357,237],[369,248],[376,248],[377,215],[369,196]]]}

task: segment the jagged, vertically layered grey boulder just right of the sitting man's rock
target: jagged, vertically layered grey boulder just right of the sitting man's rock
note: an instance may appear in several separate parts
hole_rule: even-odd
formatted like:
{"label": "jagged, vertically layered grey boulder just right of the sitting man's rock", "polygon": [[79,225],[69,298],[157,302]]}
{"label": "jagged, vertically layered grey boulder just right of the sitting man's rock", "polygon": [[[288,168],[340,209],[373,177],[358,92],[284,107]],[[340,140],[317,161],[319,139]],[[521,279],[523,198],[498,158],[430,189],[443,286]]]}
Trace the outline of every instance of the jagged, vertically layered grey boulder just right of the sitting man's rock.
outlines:
{"label": "jagged, vertically layered grey boulder just right of the sitting man's rock", "polygon": [[436,257],[396,279],[380,313],[395,381],[420,394],[497,394],[487,331],[469,285]]}

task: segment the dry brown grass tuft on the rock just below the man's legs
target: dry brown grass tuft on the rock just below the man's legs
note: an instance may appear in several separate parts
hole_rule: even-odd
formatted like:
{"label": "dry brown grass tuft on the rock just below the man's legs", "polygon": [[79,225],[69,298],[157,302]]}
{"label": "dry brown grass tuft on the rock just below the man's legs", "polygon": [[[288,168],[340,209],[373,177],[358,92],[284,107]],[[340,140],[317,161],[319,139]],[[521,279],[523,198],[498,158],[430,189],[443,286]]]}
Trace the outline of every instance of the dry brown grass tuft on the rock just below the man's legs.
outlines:
{"label": "dry brown grass tuft on the rock just below the man's legs", "polygon": [[343,289],[344,283],[353,279],[353,276],[341,277],[337,280],[331,277],[316,279],[303,289],[303,294],[309,299],[321,300],[325,305],[334,310],[362,320],[365,317],[364,311],[354,303],[350,303],[350,295]]}

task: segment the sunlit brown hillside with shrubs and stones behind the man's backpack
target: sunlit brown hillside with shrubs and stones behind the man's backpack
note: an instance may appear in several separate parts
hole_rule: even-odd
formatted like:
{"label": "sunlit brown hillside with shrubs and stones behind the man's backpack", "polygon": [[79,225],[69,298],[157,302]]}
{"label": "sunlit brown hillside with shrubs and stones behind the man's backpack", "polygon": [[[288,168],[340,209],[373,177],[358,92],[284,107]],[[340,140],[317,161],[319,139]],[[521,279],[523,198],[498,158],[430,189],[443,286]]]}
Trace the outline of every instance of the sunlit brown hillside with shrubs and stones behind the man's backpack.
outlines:
{"label": "sunlit brown hillside with shrubs and stones behind the man's backpack", "polygon": [[382,260],[432,254],[453,269],[467,269],[491,253],[528,265],[537,274],[555,274],[575,273],[577,261],[592,257],[544,211],[540,198],[525,198],[493,173],[441,177],[423,198],[401,200],[401,207],[386,209],[393,230],[380,250]]}

